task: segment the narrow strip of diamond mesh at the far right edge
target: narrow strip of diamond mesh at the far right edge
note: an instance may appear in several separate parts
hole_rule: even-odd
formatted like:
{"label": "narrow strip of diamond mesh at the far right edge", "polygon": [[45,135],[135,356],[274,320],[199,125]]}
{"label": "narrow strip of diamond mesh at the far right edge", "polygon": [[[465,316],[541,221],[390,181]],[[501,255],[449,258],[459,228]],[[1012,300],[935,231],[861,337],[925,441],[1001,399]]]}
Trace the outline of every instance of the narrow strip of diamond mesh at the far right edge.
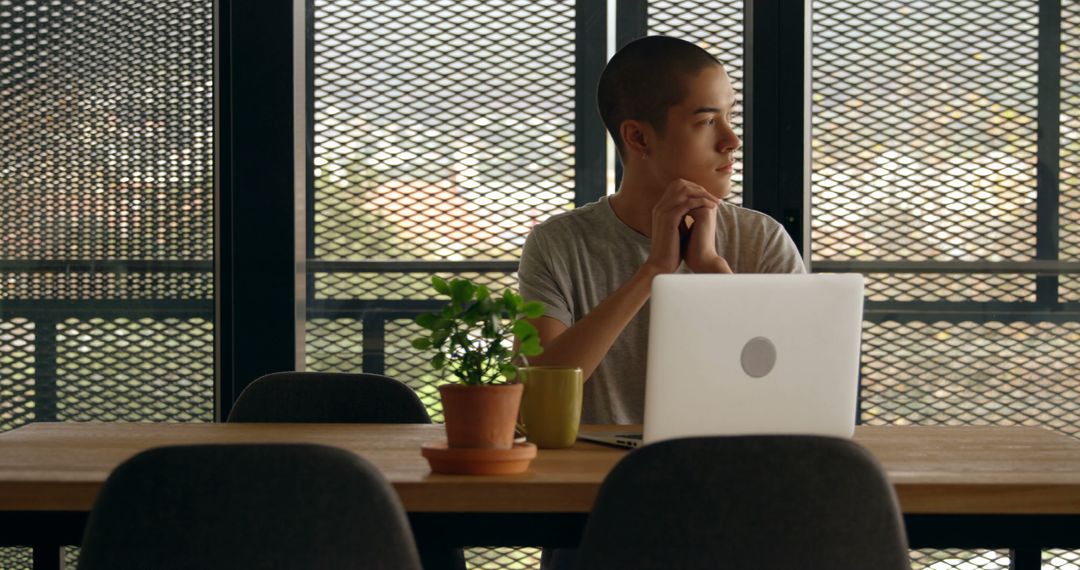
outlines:
{"label": "narrow strip of diamond mesh at the far right edge", "polygon": [[[1059,257],[1080,259],[1080,2],[1062,1]],[[1080,301],[1080,277],[1062,275],[1059,298]]]}

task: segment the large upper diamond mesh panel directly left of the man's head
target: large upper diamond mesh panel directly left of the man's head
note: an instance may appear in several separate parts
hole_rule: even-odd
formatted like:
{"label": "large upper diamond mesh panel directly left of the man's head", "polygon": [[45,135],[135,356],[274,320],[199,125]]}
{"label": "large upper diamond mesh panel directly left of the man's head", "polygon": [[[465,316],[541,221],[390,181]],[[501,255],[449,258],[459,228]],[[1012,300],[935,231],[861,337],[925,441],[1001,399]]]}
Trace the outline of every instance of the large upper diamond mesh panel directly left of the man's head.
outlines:
{"label": "large upper diamond mesh panel directly left of the man's head", "polygon": [[314,257],[516,259],[573,203],[573,2],[314,2]]}

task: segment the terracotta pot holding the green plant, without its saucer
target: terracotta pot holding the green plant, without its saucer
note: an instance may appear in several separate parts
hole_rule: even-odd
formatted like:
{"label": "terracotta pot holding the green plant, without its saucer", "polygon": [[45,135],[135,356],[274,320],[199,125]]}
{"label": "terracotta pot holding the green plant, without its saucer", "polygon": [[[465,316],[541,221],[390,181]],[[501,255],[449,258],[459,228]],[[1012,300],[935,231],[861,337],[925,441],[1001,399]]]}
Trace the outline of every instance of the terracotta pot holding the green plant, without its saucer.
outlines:
{"label": "terracotta pot holding the green plant, without its saucer", "polygon": [[443,384],[443,416],[451,448],[510,449],[523,384]]}

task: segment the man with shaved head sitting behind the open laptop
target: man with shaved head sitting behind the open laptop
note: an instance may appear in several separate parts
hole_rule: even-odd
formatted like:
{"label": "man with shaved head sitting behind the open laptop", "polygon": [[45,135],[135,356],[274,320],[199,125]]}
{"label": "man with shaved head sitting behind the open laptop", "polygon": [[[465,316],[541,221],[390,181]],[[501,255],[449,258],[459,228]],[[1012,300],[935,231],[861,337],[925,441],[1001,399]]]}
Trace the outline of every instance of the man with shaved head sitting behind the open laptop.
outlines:
{"label": "man with shaved head sitting behind the open laptop", "polygon": [[546,309],[530,364],[584,371],[582,422],[642,423],[652,277],[806,270],[779,223],[721,201],[741,141],[734,91],[708,52],[631,42],[604,69],[598,103],[624,165],[619,191],[534,228],[518,288]]}

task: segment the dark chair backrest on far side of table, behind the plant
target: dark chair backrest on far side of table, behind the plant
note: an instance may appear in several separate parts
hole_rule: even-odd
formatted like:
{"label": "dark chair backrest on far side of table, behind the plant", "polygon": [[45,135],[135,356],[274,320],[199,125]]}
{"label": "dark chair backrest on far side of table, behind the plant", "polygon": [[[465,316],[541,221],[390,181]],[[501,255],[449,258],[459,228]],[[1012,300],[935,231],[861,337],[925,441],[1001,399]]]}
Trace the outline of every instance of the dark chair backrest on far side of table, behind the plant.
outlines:
{"label": "dark chair backrest on far side of table, behind the plant", "polygon": [[374,374],[275,372],[247,385],[229,422],[431,423],[416,392]]}

